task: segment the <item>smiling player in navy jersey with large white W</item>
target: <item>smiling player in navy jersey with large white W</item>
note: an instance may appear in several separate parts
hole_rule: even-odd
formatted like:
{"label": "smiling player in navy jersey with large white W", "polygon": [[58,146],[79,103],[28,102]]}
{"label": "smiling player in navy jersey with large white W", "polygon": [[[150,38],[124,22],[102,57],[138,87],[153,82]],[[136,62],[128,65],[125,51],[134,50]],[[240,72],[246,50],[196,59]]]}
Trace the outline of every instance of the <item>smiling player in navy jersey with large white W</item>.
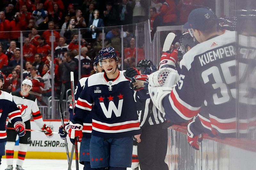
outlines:
{"label": "smiling player in navy jersey with large white W", "polygon": [[92,168],[126,170],[132,163],[132,137],[140,134],[139,120],[125,71],[117,70],[118,57],[112,47],[99,52],[104,73],[90,76],[85,82],[70,121],[68,135],[82,138],[82,120],[91,110],[92,138],[90,163]]}

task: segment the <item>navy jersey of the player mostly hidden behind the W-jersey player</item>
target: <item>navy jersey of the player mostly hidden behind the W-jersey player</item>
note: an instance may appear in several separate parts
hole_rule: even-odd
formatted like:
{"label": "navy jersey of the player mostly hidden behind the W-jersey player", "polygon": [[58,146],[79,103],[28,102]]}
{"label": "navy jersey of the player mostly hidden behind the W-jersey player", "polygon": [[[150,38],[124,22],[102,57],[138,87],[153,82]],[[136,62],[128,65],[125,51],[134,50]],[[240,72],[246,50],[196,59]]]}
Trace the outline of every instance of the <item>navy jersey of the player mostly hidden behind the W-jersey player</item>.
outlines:
{"label": "navy jersey of the player mostly hidden behind the W-jersey player", "polygon": [[[75,103],[77,99],[79,98],[80,93],[83,91],[85,86],[85,81],[87,80],[87,77],[81,78],[75,89]],[[87,115],[83,117],[83,120],[81,121],[83,123],[83,137],[91,137],[92,134],[92,111]],[[73,118],[73,106],[69,105],[69,120],[72,120]]]}

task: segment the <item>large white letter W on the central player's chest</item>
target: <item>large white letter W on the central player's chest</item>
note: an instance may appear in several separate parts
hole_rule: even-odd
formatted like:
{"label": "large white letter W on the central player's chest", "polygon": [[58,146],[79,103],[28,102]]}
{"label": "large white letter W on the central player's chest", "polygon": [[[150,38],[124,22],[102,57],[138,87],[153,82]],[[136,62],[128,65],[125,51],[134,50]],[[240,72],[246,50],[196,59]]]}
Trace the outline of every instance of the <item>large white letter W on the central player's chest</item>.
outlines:
{"label": "large white letter W on the central player's chest", "polygon": [[118,108],[116,108],[116,105],[113,101],[109,102],[108,110],[107,110],[104,102],[100,102],[100,106],[102,108],[104,115],[107,118],[111,118],[112,111],[114,111],[116,117],[119,117],[119,116],[121,116],[121,111],[122,111],[122,107],[123,107],[123,99],[118,101]]}

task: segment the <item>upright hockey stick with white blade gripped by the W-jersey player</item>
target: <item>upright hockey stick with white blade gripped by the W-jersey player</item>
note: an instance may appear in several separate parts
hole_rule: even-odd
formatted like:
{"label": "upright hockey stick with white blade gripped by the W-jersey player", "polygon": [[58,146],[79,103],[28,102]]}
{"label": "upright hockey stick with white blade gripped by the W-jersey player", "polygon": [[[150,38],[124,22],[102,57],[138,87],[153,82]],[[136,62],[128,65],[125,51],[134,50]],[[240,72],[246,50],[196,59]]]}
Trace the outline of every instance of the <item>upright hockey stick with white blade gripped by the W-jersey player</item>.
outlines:
{"label": "upright hockey stick with white blade gripped by the W-jersey player", "polygon": [[[72,106],[73,106],[72,109],[73,109],[73,114],[74,114],[75,113],[74,108],[75,108],[76,103],[75,103],[75,87],[74,87],[74,72],[73,71],[70,72],[70,81],[71,81],[71,96],[72,96]],[[77,146],[77,139],[76,138],[75,138],[75,157],[76,157],[76,170],[79,170],[78,146]]]}

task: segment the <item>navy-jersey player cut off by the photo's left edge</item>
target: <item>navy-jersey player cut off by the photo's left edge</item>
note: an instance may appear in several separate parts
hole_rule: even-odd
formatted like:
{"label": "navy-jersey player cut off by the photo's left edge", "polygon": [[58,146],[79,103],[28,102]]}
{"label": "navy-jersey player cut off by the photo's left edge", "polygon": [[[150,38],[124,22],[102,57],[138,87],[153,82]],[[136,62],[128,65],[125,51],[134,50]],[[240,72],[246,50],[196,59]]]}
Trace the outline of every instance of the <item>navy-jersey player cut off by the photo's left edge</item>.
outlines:
{"label": "navy-jersey player cut off by the photo's left edge", "polygon": [[[4,85],[4,76],[0,74],[0,89]],[[19,137],[25,135],[25,123],[22,122],[20,109],[17,107],[13,101],[12,95],[10,93],[0,90],[0,164],[2,156],[4,155],[5,142],[7,141],[7,135],[5,130],[6,118],[8,116],[9,121],[12,122]],[[8,154],[6,155],[8,156]]]}

